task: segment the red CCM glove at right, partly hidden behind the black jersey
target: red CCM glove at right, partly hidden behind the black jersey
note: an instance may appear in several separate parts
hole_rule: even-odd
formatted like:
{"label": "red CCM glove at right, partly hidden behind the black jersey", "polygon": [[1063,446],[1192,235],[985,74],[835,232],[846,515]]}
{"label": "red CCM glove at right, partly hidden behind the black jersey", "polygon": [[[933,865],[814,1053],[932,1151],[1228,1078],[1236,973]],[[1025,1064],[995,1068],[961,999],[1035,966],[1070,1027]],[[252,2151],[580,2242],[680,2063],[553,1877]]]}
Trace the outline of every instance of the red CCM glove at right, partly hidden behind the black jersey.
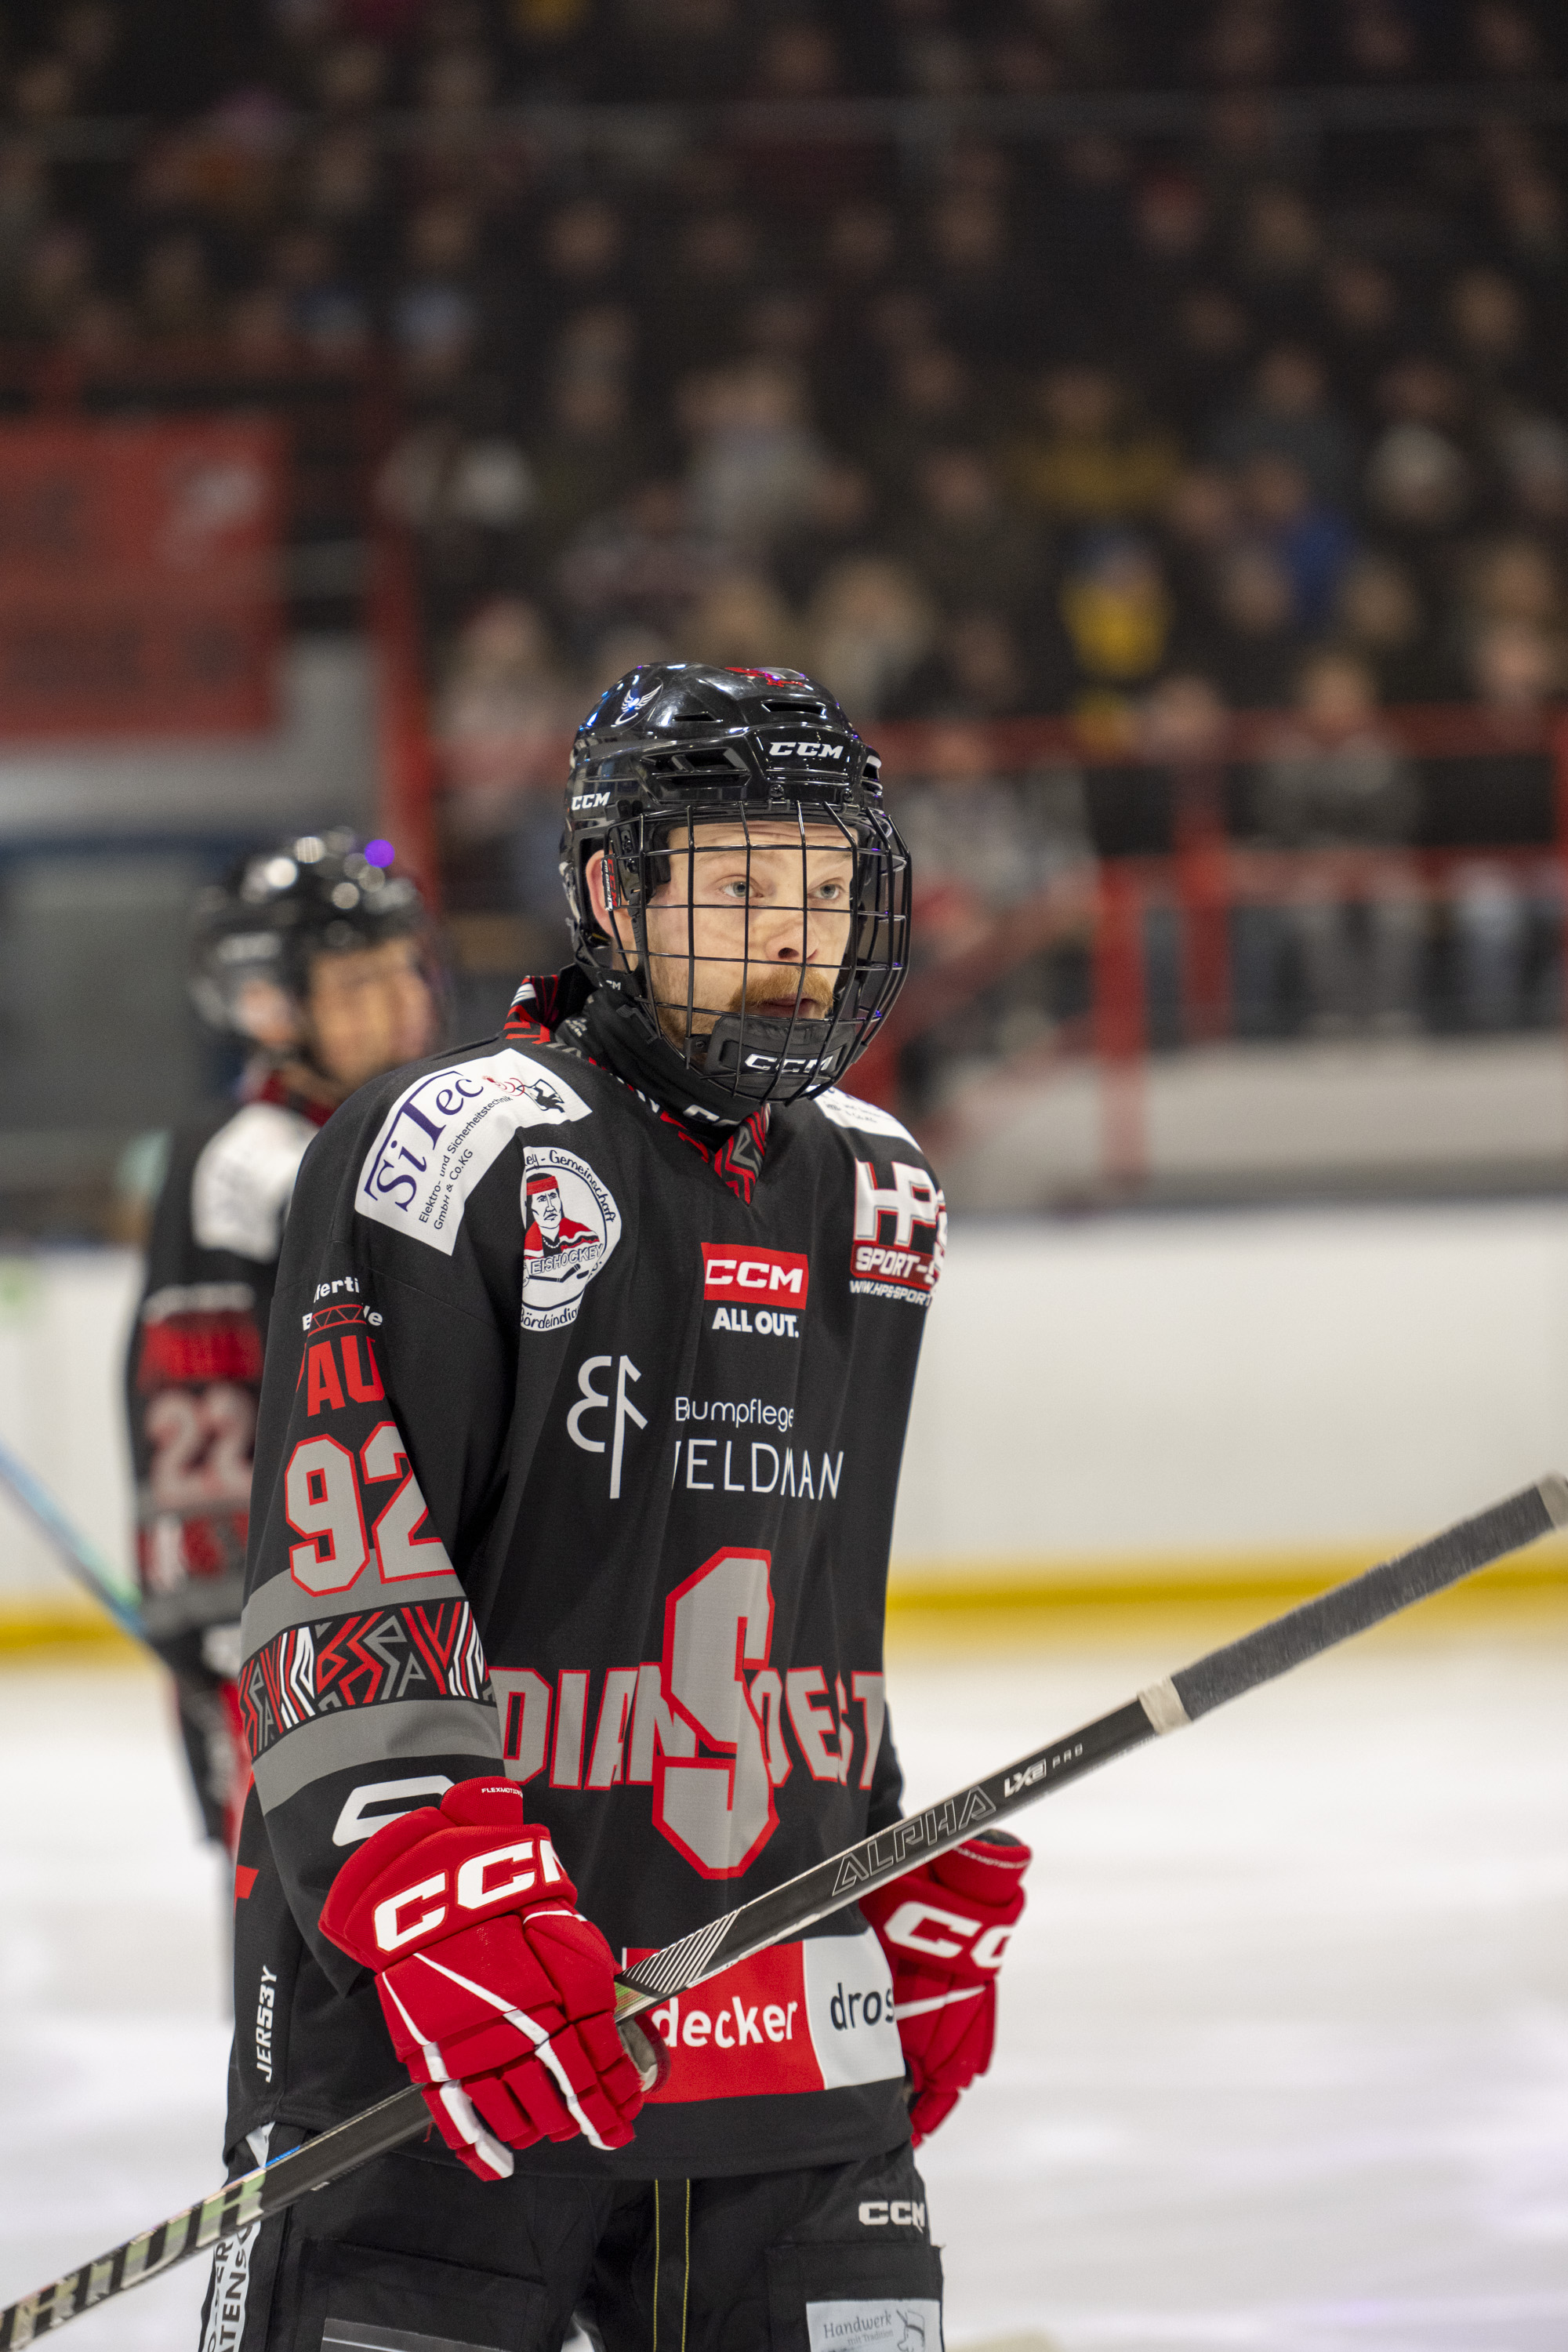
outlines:
{"label": "red CCM glove at right, partly hidden behind the black jersey", "polygon": [[997,1969],[1027,1867],[1023,1839],[992,1830],[860,1896],[893,1971],[917,2147],[992,2063]]}

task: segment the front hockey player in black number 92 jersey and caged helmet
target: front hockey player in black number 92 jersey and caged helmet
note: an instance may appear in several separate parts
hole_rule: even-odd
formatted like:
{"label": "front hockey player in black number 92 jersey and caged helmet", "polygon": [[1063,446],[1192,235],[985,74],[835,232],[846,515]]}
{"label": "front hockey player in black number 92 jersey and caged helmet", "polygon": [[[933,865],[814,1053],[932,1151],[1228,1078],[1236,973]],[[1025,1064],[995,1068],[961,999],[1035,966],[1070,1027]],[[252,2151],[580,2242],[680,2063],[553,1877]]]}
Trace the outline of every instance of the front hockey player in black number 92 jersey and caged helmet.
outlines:
{"label": "front hockey player in black number 92 jersey and caged helmet", "polygon": [[[877,760],[795,670],[632,670],[578,960],[364,1087],[256,1439],[230,2161],[407,2074],[425,2143],[219,2249],[207,2352],[940,2345],[912,2126],[987,2063],[987,1837],[644,2018],[614,1971],[898,1816],[886,1555],[945,1247],[839,1091],[907,957]],[[404,2072],[407,2070],[407,2072]]]}

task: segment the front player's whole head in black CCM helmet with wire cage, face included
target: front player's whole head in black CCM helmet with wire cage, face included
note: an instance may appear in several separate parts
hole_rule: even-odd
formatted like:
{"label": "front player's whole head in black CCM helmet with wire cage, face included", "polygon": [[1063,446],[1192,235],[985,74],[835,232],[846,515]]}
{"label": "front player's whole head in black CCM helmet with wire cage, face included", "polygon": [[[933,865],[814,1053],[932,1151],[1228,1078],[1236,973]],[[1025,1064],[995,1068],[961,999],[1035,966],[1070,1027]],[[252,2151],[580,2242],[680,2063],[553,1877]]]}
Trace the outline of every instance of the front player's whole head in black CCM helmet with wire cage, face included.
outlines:
{"label": "front player's whole head in black CCM helmet with wire cage, face included", "polygon": [[[780,884],[780,847],[799,858],[792,891]],[[726,880],[743,880],[755,920],[733,922],[731,889],[731,936],[719,946],[724,927],[698,917],[705,858],[722,849],[743,858]],[[842,863],[823,873],[820,851],[839,849],[849,873]],[[597,851],[621,922],[595,910],[588,866]],[[654,1063],[684,1073],[703,1098],[689,1108],[708,1117],[729,1105],[743,1117],[752,1103],[792,1103],[837,1084],[905,978],[910,856],[882,807],[877,753],[799,670],[646,663],[609,687],[574,743],[562,882],[578,964],[614,995]],[[844,896],[827,896],[827,882]],[[651,920],[668,884],[665,908],[684,903],[684,938]],[[788,906],[799,917],[783,936],[769,922],[764,955],[757,931]],[[849,917],[844,929],[835,917]],[[654,1002],[654,957],[682,967],[677,1002],[668,969],[663,1004]],[[705,967],[715,974],[708,990]],[[780,983],[778,1009],[748,1004],[762,993],[757,969]]]}

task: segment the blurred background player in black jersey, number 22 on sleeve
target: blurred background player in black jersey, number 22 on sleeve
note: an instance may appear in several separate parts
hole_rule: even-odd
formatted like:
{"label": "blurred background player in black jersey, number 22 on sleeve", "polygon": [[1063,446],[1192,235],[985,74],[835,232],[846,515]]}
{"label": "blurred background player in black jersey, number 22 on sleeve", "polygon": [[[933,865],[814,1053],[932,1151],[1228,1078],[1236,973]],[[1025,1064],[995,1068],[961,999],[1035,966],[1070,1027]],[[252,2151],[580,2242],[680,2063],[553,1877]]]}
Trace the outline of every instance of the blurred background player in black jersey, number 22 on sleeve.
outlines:
{"label": "blurred background player in black jersey, number 22 on sleeve", "polygon": [[240,1103],[172,1138],[132,1327],[141,1613],[212,1839],[249,1780],[235,1670],[261,1357],[294,1176],[367,1077],[435,1042],[421,896],[350,833],[240,863],[197,903],[193,993],[244,1037]]}

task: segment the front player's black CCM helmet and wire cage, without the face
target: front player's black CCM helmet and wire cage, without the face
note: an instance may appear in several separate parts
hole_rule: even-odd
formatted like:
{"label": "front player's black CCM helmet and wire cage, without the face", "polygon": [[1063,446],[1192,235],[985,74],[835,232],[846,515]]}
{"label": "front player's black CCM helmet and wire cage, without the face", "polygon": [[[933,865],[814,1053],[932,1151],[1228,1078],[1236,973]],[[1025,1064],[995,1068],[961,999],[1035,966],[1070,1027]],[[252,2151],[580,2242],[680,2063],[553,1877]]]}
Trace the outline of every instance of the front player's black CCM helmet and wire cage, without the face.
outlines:
{"label": "front player's black CCM helmet and wire cage, without the face", "polygon": [[[757,821],[830,826],[853,854],[853,920],[825,1018],[802,1002],[795,1014],[705,1007],[708,1035],[675,1044],[646,993],[646,903],[670,877],[677,828],[724,826],[745,840]],[[769,847],[773,837],[769,835]],[[816,844],[813,844],[816,847]],[[635,962],[597,922],[585,870],[607,858],[614,903],[625,908]],[[879,760],[825,687],[799,670],[722,670],[698,661],[656,661],[628,670],[583,720],[571,748],[562,882],[578,964],[621,997],[644,1058],[710,1105],[797,1101],[837,1087],[872,1042],[903,988],[910,948],[910,854],[882,807]],[[703,1004],[693,960],[693,1007]]]}

